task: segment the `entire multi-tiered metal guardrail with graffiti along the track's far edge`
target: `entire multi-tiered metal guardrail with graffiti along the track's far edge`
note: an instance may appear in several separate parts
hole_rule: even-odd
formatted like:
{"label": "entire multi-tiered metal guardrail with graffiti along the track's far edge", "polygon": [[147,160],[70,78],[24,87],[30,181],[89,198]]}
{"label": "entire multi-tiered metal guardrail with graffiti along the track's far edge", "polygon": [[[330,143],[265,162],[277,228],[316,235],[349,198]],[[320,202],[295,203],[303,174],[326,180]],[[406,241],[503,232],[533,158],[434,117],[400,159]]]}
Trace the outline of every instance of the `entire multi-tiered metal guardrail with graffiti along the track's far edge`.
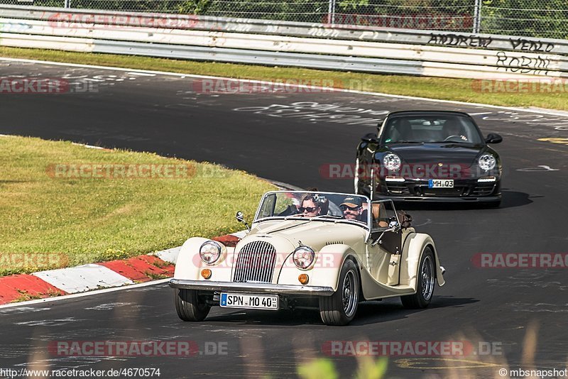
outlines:
{"label": "entire multi-tiered metal guardrail with graffiti along the track's far edge", "polygon": [[6,46],[441,77],[568,77],[567,40],[29,6],[0,6],[0,17]]}

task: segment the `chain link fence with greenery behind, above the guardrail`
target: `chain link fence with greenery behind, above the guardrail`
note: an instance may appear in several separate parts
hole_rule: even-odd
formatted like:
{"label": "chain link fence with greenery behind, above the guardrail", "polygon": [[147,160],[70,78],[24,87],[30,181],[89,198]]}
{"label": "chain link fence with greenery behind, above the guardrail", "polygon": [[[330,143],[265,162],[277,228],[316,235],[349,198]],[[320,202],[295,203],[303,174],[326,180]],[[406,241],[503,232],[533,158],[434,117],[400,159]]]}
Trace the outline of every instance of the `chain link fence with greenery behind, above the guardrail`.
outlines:
{"label": "chain link fence with greenery behind, above the guardrail", "polygon": [[566,0],[0,0],[0,4],[568,38]]}

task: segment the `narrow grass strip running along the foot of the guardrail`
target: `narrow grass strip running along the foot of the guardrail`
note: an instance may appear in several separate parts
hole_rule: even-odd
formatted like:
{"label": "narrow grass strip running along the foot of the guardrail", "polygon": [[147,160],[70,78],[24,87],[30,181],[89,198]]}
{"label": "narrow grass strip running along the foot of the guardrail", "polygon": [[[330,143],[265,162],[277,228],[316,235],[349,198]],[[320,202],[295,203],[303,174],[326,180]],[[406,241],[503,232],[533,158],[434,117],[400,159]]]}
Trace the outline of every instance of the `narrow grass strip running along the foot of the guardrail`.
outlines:
{"label": "narrow grass strip running along the foot of the guardrail", "polygon": [[[294,67],[234,65],[229,63],[193,62],[153,57],[72,53],[59,50],[27,48],[0,48],[0,56],[80,63],[84,65],[125,67],[138,70],[180,72],[193,75],[233,77],[238,79],[307,79],[320,82],[326,80],[328,82],[342,83],[344,87],[345,84],[349,83],[364,83],[363,88],[354,87],[353,89],[500,106],[535,106],[547,109],[568,110],[568,86],[564,85],[558,87],[552,86],[552,92],[535,92],[535,90],[531,89],[532,87],[528,87],[526,93],[482,93],[477,89],[479,82],[475,82],[472,79],[376,75],[358,72],[309,70]],[[515,77],[514,74],[510,76]],[[347,85],[347,87],[349,87],[349,85]]]}

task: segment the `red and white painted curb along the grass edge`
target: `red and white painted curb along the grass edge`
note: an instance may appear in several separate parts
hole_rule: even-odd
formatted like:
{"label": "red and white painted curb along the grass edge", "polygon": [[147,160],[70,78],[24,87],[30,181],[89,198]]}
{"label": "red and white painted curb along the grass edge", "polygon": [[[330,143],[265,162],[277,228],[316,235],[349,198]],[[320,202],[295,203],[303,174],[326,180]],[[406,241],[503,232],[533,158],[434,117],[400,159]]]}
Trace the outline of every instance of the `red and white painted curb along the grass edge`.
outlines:
{"label": "red and white painted curb along the grass edge", "polygon": [[[244,235],[244,231],[239,231],[212,239],[231,247]],[[4,276],[0,278],[0,304],[124,287],[136,283],[163,282],[165,278],[173,277],[180,248],[181,246],[128,259]]]}

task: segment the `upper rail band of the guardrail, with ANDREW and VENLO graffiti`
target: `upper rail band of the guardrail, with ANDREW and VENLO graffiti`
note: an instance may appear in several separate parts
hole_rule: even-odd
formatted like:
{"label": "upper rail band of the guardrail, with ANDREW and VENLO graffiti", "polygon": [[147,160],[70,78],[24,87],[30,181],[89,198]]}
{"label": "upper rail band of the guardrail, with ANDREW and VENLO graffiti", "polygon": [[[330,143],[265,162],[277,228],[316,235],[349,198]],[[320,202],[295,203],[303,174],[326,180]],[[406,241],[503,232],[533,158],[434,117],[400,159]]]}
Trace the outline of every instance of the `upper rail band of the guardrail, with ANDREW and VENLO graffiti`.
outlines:
{"label": "upper rail band of the guardrail, with ANDREW and VENLO graffiti", "polygon": [[450,48],[484,48],[528,53],[568,55],[568,40],[516,37],[510,35],[472,34],[440,31],[415,31],[396,28],[373,28],[325,23],[258,20],[256,18],[222,18],[164,13],[93,11],[30,6],[0,6],[0,17],[43,20],[51,23],[80,21],[83,26],[99,23],[114,26],[152,26],[202,31],[241,32],[250,34],[289,35],[303,38],[366,40],[386,43],[437,45]]}

